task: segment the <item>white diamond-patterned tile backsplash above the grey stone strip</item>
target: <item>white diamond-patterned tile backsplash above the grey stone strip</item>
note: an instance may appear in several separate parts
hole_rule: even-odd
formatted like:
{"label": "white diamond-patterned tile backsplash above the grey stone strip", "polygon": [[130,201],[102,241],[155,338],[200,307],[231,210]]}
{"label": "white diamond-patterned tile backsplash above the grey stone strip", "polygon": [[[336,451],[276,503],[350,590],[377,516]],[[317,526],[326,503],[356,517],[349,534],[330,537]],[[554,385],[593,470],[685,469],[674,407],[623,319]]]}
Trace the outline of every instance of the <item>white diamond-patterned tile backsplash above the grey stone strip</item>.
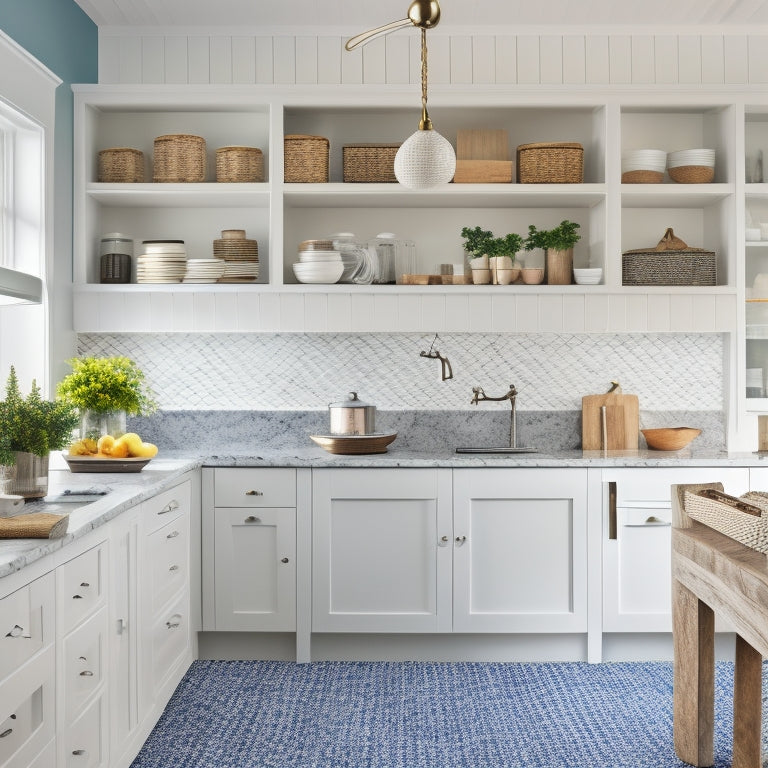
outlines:
{"label": "white diamond-patterned tile backsplash above the grey stone strip", "polygon": [[[468,411],[472,387],[519,411],[580,411],[612,379],[642,411],[724,410],[716,334],[84,334],[79,355],[137,362],[163,411],[313,411],[354,390],[384,411]],[[507,403],[484,403],[506,408]]]}

